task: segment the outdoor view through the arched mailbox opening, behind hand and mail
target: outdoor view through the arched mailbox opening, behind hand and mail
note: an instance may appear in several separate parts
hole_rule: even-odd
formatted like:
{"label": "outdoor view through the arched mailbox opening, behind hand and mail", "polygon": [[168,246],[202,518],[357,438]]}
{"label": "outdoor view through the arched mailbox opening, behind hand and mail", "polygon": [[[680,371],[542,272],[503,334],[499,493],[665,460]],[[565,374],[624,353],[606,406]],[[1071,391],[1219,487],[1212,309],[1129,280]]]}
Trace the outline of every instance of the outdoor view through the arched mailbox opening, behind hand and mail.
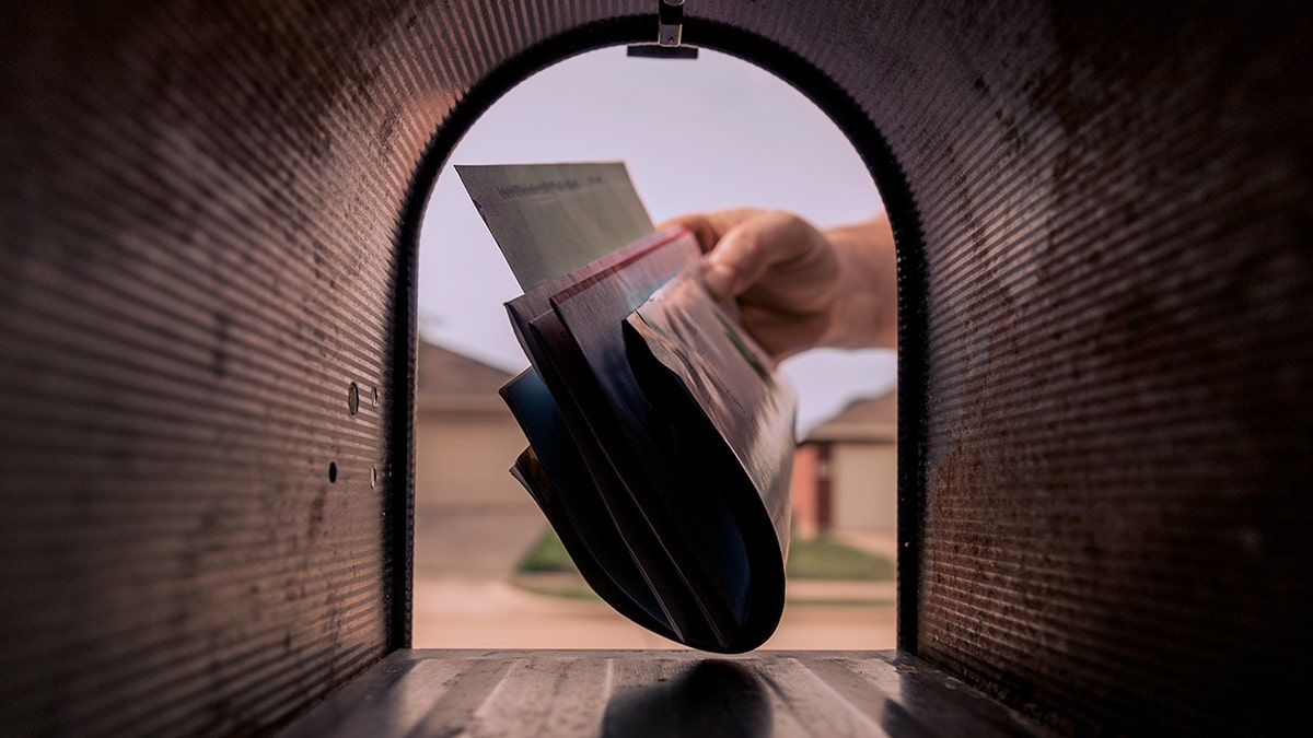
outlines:
{"label": "outdoor view through the arched mailbox opening, behind hand and mail", "polygon": [[[524,588],[587,595],[569,574],[519,574],[507,591],[545,527],[507,473],[525,441],[495,395],[525,365],[502,307],[520,290],[450,164],[624,159],[656,222],[754,205],[823,227],[878,213],[880,194],[851,142],[811,101],[705,49],[697,62],[626,59],[622,47],[561,62],[508,91],[445,156],[419,232],[414,643],[659,645],[650,636],[651,643],[608,641],[605,629],[571,640],[569,619],[536,613]],[[499,380],[498,369],[509,373]],[[805,441],[794,469],[790,588],[801,604],[789,605],[773,643],[892,647],[895,357],[817,351],[783,372],[800,393]],[[494,600],[500,607],[473,604]],[[496,622],[515,632],[498,638]]]}

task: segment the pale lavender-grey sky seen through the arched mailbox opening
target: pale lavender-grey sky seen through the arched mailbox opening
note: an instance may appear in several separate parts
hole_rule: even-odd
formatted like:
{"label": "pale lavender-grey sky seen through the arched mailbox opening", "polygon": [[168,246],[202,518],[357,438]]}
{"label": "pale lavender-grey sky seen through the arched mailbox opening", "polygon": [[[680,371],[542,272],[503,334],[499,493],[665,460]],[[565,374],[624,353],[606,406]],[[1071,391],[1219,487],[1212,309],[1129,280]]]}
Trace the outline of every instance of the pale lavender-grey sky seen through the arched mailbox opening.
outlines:
{"label": "pale lavender-grey sky seen through the arched mailbox opening", "polygon": [[[697,60],[574,56],[496,101],[439,175],[420,230],[419,320],[427,340],[508,372],[528,366],[502,307],[520,294],[453,164],[612,162],[629,167],[654,222],[722,207],[780,207],[817,226],[880,210],[843,133],[769,72],[701,50]],[[894,386],[892,351],[813,351],[784,362],[806,431]]]}

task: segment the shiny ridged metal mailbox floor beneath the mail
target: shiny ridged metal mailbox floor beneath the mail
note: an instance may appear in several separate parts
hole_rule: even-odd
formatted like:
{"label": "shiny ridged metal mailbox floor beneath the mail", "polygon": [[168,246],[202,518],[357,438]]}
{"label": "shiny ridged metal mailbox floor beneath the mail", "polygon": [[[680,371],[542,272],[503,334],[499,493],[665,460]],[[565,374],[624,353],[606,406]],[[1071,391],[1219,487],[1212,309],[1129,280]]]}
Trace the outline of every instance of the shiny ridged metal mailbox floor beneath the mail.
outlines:
{"label": "shiny ridged metal mailbox floor beneath the mail", "polygon": [[298,735],[1031,735],[998,703],[894,651],[398,651]]}

